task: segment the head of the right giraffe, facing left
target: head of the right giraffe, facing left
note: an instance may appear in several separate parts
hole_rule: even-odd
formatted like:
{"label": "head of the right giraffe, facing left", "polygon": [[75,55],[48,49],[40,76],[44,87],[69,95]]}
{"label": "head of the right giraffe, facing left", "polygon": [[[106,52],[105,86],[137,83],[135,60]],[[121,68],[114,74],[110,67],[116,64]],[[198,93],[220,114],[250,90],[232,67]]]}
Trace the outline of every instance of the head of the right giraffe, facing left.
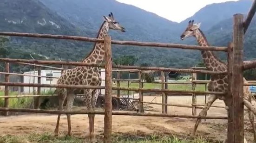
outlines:
{"label": "head of the right giraffe, facing left", "polygon": [[186,30],[181,34],[180,39],[184,40],[187,37],[195,36],[197,29],[199,29],[201,23],[194,23],[194,20],[189,21],[189,25]]}

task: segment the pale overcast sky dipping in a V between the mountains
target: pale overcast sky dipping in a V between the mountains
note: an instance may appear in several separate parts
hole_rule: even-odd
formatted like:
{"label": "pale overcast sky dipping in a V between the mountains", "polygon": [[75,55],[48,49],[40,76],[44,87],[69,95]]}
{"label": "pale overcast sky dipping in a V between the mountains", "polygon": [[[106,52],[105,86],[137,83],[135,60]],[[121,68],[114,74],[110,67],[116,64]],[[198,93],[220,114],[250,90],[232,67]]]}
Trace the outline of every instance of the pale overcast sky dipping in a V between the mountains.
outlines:
{"label": "pale overcast sky dipping in a V between the mountains", "polygon": [[137,6],[146,11],[175,22],[189,18],[198,10],[212,3],[238,0],[117,0],[122,3]]}

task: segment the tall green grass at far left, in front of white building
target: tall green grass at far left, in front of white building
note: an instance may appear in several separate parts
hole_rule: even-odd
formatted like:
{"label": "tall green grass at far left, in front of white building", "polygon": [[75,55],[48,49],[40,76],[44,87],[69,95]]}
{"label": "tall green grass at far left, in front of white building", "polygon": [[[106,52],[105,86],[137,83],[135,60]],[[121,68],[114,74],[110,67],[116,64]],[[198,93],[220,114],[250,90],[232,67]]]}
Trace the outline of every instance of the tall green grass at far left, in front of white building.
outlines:
{"label": "tall green grass at far left, in front of white building", "polygon": [[[18,95],[17,92],[9,92],[9,96]],[[4,96],[4,92],[0,91],[0,96]],[[0,98],[0,106],[4,106],[4,98]],[[12,108],[27,108],[33,103],[33,98],[9,98],[9,107]]]}

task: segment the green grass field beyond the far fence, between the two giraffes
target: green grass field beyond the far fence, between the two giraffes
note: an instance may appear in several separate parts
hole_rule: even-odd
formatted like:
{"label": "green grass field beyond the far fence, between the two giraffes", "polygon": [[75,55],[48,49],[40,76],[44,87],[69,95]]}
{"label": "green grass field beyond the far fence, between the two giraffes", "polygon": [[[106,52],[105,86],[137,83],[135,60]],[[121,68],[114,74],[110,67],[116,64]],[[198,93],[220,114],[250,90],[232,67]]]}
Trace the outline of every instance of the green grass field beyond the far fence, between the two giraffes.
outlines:
{"label": "green grass field beyond the far fence, between the two giraffes", "polygon": [[[131,83],[129,85],[130,88],[138,88],[139,84],[138,83]],[[120,82],[120,87],[128,87],[128,82],[127,81],[121,81]],[[144,87],[145,89],[160,89],[161,88],[161,84],[159,83],[144,83]],[[192,86],[191,85],[184,85],[184,84],[168,84],[168,89],[171,90],[192,90]],[[205,85],[204,84],[198,84],[196,86],[197,91],[205,91]],[[122,95],[127,95],[127,91],[120,91]],[[116,93],[116,91],[113,91],[113,93]],[[129,91],[129,94],[134,94],[136,92],[134,91]]]}

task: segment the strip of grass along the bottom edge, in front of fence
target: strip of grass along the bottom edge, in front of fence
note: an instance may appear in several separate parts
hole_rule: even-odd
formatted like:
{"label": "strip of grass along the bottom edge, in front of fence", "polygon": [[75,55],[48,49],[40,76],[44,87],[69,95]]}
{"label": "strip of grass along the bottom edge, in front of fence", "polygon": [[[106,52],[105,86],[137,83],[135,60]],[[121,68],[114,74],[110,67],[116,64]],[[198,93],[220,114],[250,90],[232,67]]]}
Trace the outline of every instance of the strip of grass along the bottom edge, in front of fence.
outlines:
{"label": "strip of grass along the bottom edge, in front of fence", "polygon": [[[25,136],[2,136],[0,137],[0,143],[89,143],[88,138],[81,137],[53,137],[50,133],[44,134],[29,134]],[[102,137],[97,139],[102,142]],[[168,136],[118,136],[113,135],[112,143],[210,143],[202,138],[196,139],[178,139],[177,137]]]}

